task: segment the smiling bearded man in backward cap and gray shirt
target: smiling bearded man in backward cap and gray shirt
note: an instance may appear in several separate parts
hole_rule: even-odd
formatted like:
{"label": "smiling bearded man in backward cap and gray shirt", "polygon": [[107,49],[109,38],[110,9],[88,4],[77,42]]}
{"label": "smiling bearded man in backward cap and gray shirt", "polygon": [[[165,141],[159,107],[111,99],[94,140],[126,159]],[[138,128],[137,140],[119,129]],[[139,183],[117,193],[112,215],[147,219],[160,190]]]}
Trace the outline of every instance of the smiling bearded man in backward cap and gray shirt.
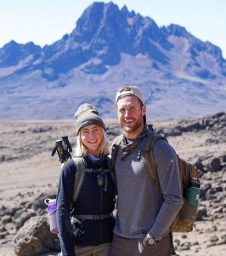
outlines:
{"label": "smiling bearded man in backward cap and gray shirt", "polygon": [[142,150],[154,132],[146,125],[138,87],[118,90],[116,112],[123,133],[116,154],[117,215],[110,255],[170,255],[170,225],[183,205],[176,153],[166,140],[155,142],[158,180],[151,179]]}

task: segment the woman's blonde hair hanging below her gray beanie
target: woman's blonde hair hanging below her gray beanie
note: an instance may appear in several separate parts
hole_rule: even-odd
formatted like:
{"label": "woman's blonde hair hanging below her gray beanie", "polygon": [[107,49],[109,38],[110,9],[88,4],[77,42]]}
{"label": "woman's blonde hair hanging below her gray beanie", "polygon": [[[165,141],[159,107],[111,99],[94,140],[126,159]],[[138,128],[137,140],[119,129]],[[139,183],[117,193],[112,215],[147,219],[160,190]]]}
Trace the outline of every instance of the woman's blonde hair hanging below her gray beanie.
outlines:
{"label": "woman's blonde hair hanging below her gray beanie", "polygon": [[[103,139],[99,146],[99,154],[109,154],[109,141],[106,136],[106,131],[101,127],[103,133]],[[81,138],[81,131],[78,132],[76,137],[76,156],[88,154],[88,149],[83,145]]]}

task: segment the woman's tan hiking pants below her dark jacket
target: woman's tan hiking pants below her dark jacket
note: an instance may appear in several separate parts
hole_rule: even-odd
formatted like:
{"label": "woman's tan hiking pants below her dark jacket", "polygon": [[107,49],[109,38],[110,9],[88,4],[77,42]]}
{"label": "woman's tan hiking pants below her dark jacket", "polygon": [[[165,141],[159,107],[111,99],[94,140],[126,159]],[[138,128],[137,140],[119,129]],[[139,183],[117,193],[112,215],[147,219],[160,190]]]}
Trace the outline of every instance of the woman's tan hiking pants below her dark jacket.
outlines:
{"label": "woman's tan hiking pants below her dark jacket", "polygon": [[76,256],[109,256],[110,242],[102,243],[99,246],[75,247]]}

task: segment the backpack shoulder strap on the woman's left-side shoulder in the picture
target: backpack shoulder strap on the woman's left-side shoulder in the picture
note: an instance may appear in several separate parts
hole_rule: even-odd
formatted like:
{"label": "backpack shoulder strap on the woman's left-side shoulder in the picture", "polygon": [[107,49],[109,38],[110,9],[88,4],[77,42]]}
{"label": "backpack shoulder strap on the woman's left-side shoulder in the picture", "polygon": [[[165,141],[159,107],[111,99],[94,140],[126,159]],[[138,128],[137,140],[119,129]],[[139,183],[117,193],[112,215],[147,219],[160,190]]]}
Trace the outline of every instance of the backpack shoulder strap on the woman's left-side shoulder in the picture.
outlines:
{"label": "backpack shoulder strap on the woman's left-side shoulder in the picture", "polygon": [[72,195],[72,201],[75,202],[79,195],[79,192],[82,188],[82,183],[85,178],[85,172],[82,172],[86,168],[86,162],[82,157],[73,157],[73,160],[76,164],[76,177]]}

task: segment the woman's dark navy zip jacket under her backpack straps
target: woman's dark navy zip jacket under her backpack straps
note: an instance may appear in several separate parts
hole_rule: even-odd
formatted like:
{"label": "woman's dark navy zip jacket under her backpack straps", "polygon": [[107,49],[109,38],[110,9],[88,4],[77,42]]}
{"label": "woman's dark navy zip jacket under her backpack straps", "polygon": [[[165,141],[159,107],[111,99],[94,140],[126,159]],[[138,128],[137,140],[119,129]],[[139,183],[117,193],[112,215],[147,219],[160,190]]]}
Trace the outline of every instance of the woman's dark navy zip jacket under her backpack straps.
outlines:
{"label": "woman's dark navy zip jacket under her backpack straps", "polygon": [[[107,160],[104,157],[99,162],[86,160],[87,168],[107,168]],[[71,208],[72,193],[74,189],[76,164],[74,160],[68,160],[62,167],[59,176],[57,194],[57,222],[59,228],[59,241],[64,256],[75,254],[76,246],[97,246],[101,243],[112,241],[112,230],[115,225],[114,218],[102,220],[79,219],[76,223],[76,236],[71,228],[71,215],[107,214],[113,212],[115,207],[116,189],[110,173],[107,175],[106,191],[97,183],[97,173],[86,173],[82,189],[77,201]]]}

